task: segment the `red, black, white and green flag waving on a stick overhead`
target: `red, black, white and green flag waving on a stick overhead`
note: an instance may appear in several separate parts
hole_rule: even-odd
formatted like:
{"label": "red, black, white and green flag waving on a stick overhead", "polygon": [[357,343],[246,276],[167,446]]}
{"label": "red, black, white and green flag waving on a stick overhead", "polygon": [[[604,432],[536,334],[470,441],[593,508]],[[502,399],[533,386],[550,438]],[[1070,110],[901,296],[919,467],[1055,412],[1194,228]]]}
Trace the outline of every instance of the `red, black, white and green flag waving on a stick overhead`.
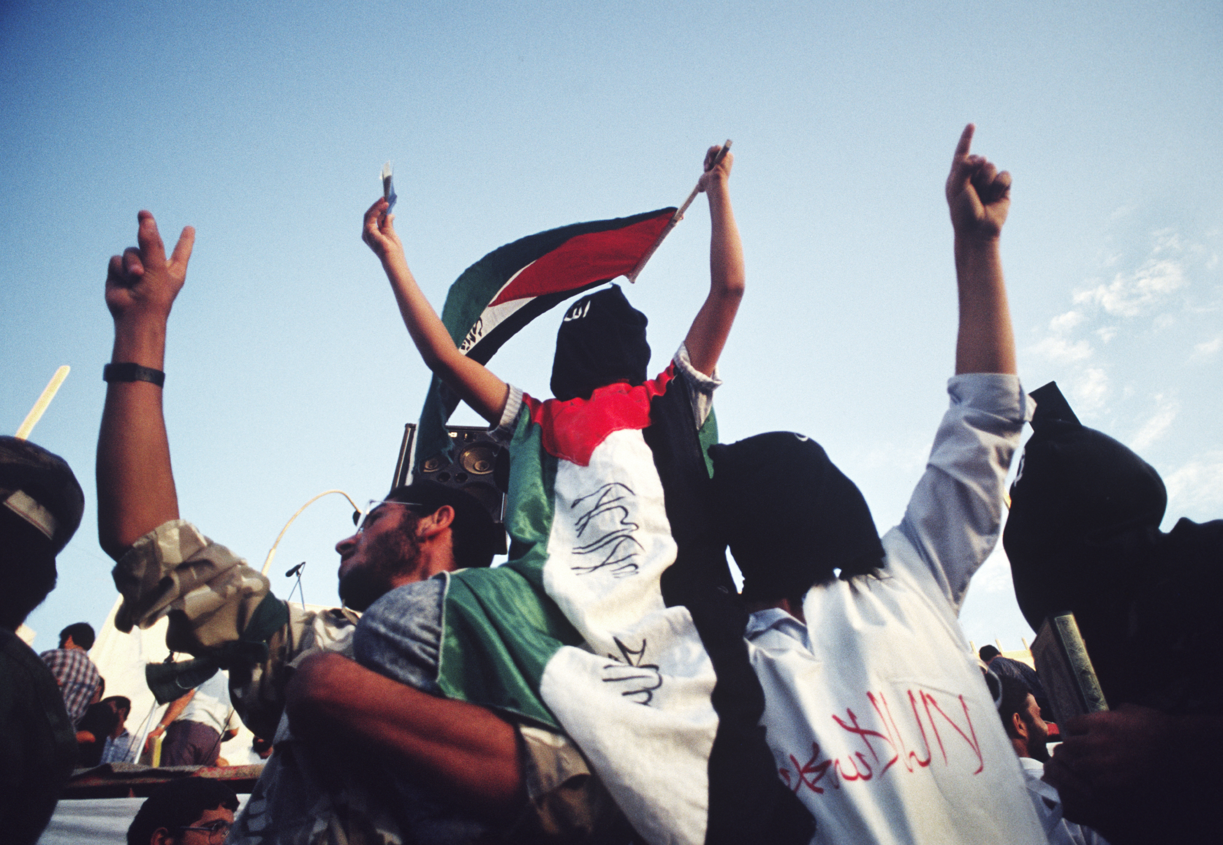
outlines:
{"label": "red, black, white and green flag waving on a stick overhead", "polygon": [[[658,242],[675,208],[575,223],[494,249],[450,286],[442,322],[479,363],[522,327],[569,297],[625,275]],[[421,411],[417,463],[450,446],[445,424],[459,399],[435,375]]]}

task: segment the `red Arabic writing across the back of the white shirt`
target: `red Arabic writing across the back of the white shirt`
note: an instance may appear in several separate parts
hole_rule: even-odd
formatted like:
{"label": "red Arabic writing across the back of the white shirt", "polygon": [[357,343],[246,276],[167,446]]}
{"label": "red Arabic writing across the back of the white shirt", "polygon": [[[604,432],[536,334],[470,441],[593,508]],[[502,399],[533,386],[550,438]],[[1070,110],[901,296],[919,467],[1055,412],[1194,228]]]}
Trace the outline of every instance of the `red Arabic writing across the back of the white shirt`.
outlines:
{"label": "red Arabic writing across the back of the white shirt", "polygon": [[[944,767],[950,767],[953,762],[948,758],[948,746],[956,746],[961,740],[967,744],[976,758],[976,769],[971,774],[981,774],[985,770],[986,763],[981,756],[981,744],[972,728],[972,717],[969,714],[969,706],[964,701],[964,696],[959,696],[959,708],[954,703],[944,708],[933,693],[925,690],[907,690],[907,709],[912,713],[917,725],[914,737],[920,735],[920,744],[910,742],[901,734],[900,725],[892,714],[892,707],[882,692],[867,692],[866,697],[878,717],[876,726],[879,730],[863,726],[857,714],[850,708],[845,708],[844,719],[837,714],[832,717],[837,726],[861,741],[865,751],[854,751],[845,757],[819,759],[823,752],[819,744],[812,741],[811,757],[806,763],[800,762],[795,755],[788,755],[790,766],[783,766],[778,769],[786,786],[795,792],[806,788],[822,795],[826,788],[840,789],[841,781],[879,779],[898,763],[900,764],[898,772],[910,773],[920,772],[929,767],[931,763],[942,762]],[[964,719],[959,723],[953,718],[953,714],[958,717],[956,709],[964,713]],[[931,746],[932,739],[933,746]]]}

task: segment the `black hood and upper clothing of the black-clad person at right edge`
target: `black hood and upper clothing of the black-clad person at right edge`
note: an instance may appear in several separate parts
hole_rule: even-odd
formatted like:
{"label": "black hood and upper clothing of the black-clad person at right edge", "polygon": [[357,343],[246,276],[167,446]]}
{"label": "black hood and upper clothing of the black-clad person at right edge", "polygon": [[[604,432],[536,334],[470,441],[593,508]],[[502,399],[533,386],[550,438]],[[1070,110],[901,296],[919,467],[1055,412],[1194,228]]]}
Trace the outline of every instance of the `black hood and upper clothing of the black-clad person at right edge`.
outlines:
{"label": "black hood and upper clothing of the black-clad person at right edge", "polygon": [[1223,713],[1223,521],[1161,532],[1159,473],[1084,427],[1055,384],[1032,395],[1003,533],[1024,616],[1075,614],[1110,707]]}

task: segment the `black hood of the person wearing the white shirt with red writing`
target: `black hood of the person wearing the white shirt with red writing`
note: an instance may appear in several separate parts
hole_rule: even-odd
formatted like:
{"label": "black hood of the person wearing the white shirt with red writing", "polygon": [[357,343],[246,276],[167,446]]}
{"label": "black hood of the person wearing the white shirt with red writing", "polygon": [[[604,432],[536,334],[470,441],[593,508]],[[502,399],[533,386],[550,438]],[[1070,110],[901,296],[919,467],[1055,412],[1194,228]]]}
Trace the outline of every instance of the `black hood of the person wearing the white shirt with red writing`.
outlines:
{"label": "black hood of the person wearing the white shirt with red writing", "polygon": [[873,572],[883,544],[866,499],[815,440],[770,432],[709,448],[715,512],[744,598],[801,596],[841,570]]}

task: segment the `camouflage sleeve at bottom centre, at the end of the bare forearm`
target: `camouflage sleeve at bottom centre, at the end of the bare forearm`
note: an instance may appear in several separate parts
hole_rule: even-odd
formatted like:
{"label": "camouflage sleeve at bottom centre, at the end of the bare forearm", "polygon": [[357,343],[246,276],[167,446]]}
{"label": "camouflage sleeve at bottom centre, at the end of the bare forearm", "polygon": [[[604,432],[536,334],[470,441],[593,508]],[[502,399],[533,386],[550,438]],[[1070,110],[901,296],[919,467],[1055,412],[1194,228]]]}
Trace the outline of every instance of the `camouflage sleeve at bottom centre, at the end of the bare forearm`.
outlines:
{"label": "camouflage sleeve at bottom centre, at the end of the bare forearm", "polygon": [[519,725],[527,803],[514,843],[621,845],[632,830],[577,746],[564,734]]}

